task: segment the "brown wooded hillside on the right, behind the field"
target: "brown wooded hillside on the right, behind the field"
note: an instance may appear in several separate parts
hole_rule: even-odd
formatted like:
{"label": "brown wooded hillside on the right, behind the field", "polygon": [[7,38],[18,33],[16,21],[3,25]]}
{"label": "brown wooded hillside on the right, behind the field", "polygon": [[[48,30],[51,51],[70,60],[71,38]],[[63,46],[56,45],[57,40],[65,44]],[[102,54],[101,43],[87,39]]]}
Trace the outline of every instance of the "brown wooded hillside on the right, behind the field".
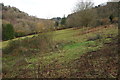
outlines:
{"label": "brown wooded hillside on the right, behind the field", "polygon": [[66,26],[83,27],[81,23],[86,24],[87,22],[90,23],[90,26],[106,25],[111,23],[110,17],[112,18],[112,23],[118,23],[118,5],[118,2],[108,2],[104,5],[93,6],[90,10],[88,9],[87,12],[73,12],[68,15]]}

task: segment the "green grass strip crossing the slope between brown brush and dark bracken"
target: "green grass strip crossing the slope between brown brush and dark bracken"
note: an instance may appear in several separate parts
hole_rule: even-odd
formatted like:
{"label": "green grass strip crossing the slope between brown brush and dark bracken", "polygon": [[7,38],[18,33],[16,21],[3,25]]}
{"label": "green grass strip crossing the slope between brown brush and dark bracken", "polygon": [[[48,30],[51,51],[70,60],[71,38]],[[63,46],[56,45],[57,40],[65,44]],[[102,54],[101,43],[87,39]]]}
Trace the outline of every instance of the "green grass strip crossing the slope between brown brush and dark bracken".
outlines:
{"label": "green grass strip crossing the slope between brown brush and dark bracken", "polygon": [[[20,55],[20,53],[19,53],[19,56],[13,56],[12,54],[5,54],[3,57],[3,63],[4,63],[3,66],[7,66],[8,68],[12,68],[12,69],[14,68],[16,70],[19,70],[22,68],[34,69],[35,64],[39,63],[41,67],[41,71],[46,69],[44,68],[45,66],[47,67],[48,65],[51,65],[49,67],[55,68],[56,70],[59,67],[62,68],[57,70],[57,73],[58,75],[64,75],[64,73],[61,74],[61,71],[66,70],[65,66],[69,66],[68,63],[79,58],[82,54],[85,54],[87,52],[97,51],[102,47],[104,47],[103,46],[104,43],[111,42],[111,38],[107,38],[109,34],[112,34],[113,37],[118,34],[117,27],[102,28],[99,31],[90,32],[82,35],[80,34],[87,29],[89,28],[76,29],[76,30],[65,29],[65,30],[54,31],[53,39],[55,42],[62,44],[61,49],[58,49],[58,51],[44,53],[44,54],[41,54],[41,52],[36,53],[34,55],[29,54],[30,56],[29,57],[26,56],[25,58],[29,63],[32,63],[32,64],[21,65],[21,66],[13,66],[16,63],[16,61],[23,58],[23,56]],[[101,34],[103,38],[95,41],[87,41],[89,37],[95,36],[97,33]],[[34,35],[31,35],[28,37],[30,38],[32,36]],[[22,37],[20,39],[24,39],[24,38],[25,37]],[[18,40],[18,39],[19,38],[14,40]],[[7,47],[8,43],[9,41],[3,42],[4,47]],[[55,67],[57,65],[61,65],[61,66]],[[13,71],[11,74],[7,75],[6,77],[11,77],[11,75],[15,77],[15,75],[17,74],[16,72],[17,71]],[[34,73],[30,72],[30,74],[34,74]],[[43,74],[46,75],[47,77],[49,76],[47,73],[43,73]],[[53,77],[58,77],[58,75],[56,74]]]}

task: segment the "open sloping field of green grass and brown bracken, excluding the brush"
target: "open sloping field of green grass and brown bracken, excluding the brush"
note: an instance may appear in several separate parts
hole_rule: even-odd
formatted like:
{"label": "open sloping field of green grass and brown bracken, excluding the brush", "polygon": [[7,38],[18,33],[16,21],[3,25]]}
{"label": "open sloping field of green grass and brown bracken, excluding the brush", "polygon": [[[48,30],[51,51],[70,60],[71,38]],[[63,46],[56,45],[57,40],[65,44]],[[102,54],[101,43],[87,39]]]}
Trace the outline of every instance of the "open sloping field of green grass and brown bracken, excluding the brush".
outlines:
{"label": "open sloping field of green grass and brown bracken, excluding the brush", "polygon": [[[97,36],[100,36],[100,39],[94,39]],[[97,58],[92,59],[92,63],[94,63],[97,59],[99,63],[100,59],[107,62],[106,56],[102,55],[105,47],[110,45],[114,40],[114,38],[118,35],[118,27],[117,25],[107,25],[100,26],[96,28],[82,28],[82,29],[65,29],[58,30],[53,32],[54,42],[58,43],[60,48],[53,52],[48,52],[42,54],[41,52],[35,54],[25,53],[24,56],[22,53],[18,55],[13,54],[3,54],[3,77],[18,77],[18,78],[63,78],[63,77],[104,77],[101,69],[101,72],[98,69],[99,75],[94,75],[90,73],[90,70],[87,69],[87,66],[82,66],[82,61],[85,59],[87,62],[83,60],[83,63],[89,63],[89,54],[98,54]],[[29,38],[34,35],[28,36]],[[24,39],[26,37],[20,38]],[[14,40],[18,40],[14,39]],[[115,39],[116,40],[116,39]],[[5,41],[2,43],[3,48],[9,45],[9,41]],[[114,44],[116,45],[116,44]],[[111,50],[113,47],[111,47]],[[107,50],[110,50],[107,48]],[[101,53],[99,52],[101,51]],[[114,51],[113,51],[114,52]],[[107,53],[107,52],[106,52]],[[104,53],[104,54],[106,54]],[[81,56],[87,55],[82,58]],[[107,55],[107,54],[106,54]],[[111,56],[116,55],[116,53]],[[110,56],[110,57],[111,57]],[[88,58],[89,57],[89,58]],[[101,57],[101,58],[100,58]],[[92,58],[92,57],[91,57]],[[93,57],[94,58],[94,57]],[[116,60],[116,56],[113,57]],[[88,60],[87,60],[88,59]],[[81,62],[80,64],[78,62]],[[91,64],[92,64],[91,63]],[[87,64],[88,65],[88,64]],[[102,63],[99,64],[102,66]],[[104,64],[105,66],[105,64]],[[80,69],[81,68],[81,69]],[[108,77],[116,77],[116,69],[113,69],[113,73],[108,72]],[[86,69],[83,71],[82,69]],[[88,70],[88,71],[87,71]],[[107,69],[106,69],[107,70]],[[95,70],[97,73],[97,70]],[[92,72],[92,71],[91,71]],[[81,75],[83,73],[83,75]],[[77,76],[75,74],[78,74]],[[106,77],[106,76],[105,76]]]}

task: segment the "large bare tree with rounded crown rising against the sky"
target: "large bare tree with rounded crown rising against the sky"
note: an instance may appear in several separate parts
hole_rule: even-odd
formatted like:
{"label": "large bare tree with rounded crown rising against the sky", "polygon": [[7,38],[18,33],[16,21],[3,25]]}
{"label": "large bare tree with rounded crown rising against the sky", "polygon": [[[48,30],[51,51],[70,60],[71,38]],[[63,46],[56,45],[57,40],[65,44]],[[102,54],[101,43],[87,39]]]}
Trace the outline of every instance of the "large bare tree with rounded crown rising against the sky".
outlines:
{"label": "large bare tree with rounded crown rising against the sky", "polygon": [[68,18],[67,23],[76,27],[94,26],[97,13],[95,9],[92,9],[93,5],[91,1],[79,1],[74,8],[74,14]]}

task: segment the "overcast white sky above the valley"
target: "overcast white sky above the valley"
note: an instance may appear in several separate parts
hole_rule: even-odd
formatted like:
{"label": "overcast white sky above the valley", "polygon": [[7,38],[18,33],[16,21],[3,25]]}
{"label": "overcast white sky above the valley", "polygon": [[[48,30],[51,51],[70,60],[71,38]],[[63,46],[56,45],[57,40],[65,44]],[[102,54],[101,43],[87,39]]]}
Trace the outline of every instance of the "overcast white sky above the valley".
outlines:
{"label": "overcast white sky above the valley", "polygon": [[[94,0],[95,5],[108,0]],[[63,17],[70,14],[78,0],[0,0],[38,18]]]}

